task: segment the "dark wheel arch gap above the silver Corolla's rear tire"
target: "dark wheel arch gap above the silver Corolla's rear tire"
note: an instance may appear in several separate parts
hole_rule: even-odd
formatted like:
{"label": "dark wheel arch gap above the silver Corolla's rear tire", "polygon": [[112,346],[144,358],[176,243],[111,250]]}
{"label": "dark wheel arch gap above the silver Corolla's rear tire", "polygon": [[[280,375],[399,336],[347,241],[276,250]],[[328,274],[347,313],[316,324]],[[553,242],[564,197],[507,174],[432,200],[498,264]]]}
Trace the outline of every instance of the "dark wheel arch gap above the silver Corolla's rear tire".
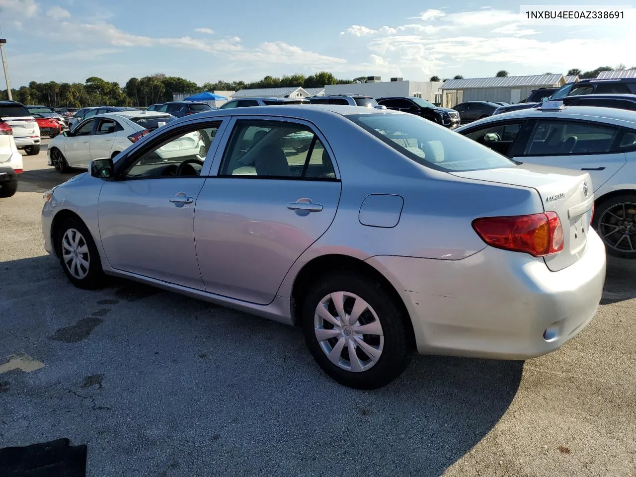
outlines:
{"label": "dark wheel arch gap above the silver Corolla's rear tire", "polygon": [[296,274],[291,289],[291,319],[294,326],[300,326],[300,314],[303,306],[303,297],[306,296],[308,288],[312,282],[328,272],[339,270],[343,272],[357,272],[366,277],[377,280],[384,289],[391,295],[396,305],[401,309],[403,319],[408,330],[411,344],[415,344],[415,331],[410,319],[410,313],[404,300],[397,292],[391,281],[389,281],[377,268],[366,261],[343,254],[326,254],[311,259]]}

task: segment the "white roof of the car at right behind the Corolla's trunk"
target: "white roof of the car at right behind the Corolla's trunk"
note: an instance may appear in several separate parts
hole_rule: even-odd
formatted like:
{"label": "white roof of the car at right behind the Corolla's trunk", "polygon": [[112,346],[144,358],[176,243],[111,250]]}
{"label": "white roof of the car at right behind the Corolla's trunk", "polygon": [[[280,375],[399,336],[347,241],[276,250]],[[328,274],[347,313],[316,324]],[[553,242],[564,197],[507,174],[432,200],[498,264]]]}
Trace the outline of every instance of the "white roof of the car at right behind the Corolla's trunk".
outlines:
{"label": "white roof of the car at right behind the Corolla's trunk", "polygon": [[602,123],[610,123],[632,128],[636,127],[636,111],[616,109],[614,107],[565,106],[562,109],[538,109],[537,107],[530,107],[528,109],[509,111],[508,113],[495,114],[494,116],[488,116],[488,118],[469,123],[466,126],[460,126],[457,128],[457,131],[473,127],[477,124],[486,125],[494,121],[536,118],[594,120]]}

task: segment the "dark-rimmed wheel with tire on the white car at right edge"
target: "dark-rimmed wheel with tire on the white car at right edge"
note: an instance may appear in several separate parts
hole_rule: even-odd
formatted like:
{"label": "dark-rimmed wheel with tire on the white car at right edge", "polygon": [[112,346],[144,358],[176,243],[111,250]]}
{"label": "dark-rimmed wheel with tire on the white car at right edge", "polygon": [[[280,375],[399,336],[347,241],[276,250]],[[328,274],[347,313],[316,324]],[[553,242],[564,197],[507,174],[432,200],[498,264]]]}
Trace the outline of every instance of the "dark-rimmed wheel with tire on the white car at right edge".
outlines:
{"label": "dark-rimmed wheel with tire on the white car at right edge", "polygon": [[592,226],[608,254],[636,258],[636,194],[617,195],[597,204]]}

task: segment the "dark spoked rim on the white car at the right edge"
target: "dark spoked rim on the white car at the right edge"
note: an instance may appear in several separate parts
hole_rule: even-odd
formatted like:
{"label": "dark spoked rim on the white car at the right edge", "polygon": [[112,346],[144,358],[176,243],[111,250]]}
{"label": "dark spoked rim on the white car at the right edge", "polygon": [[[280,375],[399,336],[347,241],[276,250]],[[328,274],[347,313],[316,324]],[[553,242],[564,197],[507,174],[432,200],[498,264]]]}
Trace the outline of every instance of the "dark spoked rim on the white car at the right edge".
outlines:
{"label": "dark spoked rim on the white car at the right edge", "polygon": [[619,252],[636,251],[636,204],[624,202],[607,209],[598,219],[605,244]]}

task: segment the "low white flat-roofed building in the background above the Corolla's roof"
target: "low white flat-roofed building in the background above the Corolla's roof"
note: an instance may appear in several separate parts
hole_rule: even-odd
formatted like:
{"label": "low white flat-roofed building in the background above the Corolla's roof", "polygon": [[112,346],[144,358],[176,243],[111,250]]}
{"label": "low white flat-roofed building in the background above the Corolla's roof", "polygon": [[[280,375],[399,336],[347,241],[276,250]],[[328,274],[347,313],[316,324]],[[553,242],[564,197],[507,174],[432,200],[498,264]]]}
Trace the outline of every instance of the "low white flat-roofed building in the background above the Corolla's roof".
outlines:
{"label": "low white flat-roofed building in the background above the Corolla's roof", "polygon": [[391,81],[381,81],[379,76],[369,76],[365,83],[349,85],[325,85],[325,95],[359,94],[381,98],[387,96],[411,96],[439,103],[439,86],[441,81],[403,81],[402,78],[391,78]]}

